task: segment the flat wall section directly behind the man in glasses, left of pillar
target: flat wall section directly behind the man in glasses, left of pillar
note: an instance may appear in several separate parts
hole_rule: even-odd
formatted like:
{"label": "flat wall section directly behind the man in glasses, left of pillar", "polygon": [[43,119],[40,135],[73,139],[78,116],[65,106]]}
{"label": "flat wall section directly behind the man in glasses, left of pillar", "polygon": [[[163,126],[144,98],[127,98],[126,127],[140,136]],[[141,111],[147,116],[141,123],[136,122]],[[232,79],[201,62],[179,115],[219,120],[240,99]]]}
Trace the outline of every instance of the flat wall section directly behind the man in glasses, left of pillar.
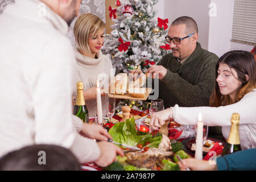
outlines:
{"label": "flat wall section directly behind the man in glasses, left of pillar", "polygon": [[209,3],[210,0],[165,0],[164,16],[169,19],[169,24],[180,16],[191,16],[199,27],[198,42],[204,49],[208,49]]}

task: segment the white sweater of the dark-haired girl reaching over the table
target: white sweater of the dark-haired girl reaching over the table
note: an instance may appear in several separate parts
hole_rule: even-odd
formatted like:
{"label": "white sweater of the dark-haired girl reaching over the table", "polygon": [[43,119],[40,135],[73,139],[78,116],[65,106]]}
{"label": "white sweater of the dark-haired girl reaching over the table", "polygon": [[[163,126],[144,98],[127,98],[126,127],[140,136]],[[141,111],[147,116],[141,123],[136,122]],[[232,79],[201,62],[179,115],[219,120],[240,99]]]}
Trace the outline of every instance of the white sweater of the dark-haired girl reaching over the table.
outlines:
{"label": "white sweater of the dark-haired girl reaching over the table", "polygon": [[174,119],[181,125],[196,125],[198,113],[202,113],[204,125],[222,126],[222,134],[228,139],[233,113],[240,114],[239,135],[242,149],[256,148],[256,89],[247,93],[239,102],[220,107],[171,107]]}

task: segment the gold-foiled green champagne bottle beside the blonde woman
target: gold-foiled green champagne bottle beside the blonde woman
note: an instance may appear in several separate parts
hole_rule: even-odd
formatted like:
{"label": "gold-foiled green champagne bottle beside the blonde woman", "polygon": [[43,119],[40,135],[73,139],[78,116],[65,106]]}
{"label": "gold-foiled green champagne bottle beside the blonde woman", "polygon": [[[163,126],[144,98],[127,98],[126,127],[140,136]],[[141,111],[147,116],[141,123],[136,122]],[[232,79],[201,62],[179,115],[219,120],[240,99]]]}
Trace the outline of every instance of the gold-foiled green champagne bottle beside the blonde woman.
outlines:
{"label": "gold-foiled green champagne bottle beside the blonde woman", "polygon": [[82,119],[82,122],[89,122],[89,114],[88,109],[85,105],[84,100],[84,84],[81,81],[76,83],[77,89],[77,97],[76,97],[76,105],[73,109],[73,114]]}

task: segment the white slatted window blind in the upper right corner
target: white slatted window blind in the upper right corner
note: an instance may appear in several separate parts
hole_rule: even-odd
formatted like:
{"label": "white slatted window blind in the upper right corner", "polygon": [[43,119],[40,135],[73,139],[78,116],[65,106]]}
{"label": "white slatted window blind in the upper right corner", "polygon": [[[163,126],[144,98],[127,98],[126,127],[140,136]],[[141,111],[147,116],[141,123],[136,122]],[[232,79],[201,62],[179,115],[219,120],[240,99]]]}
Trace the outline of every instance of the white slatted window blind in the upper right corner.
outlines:
{"label": "white slatted window blind in the upper right corner", "polygon": [[235,0],[232,40],[256,43],[256,0]]}

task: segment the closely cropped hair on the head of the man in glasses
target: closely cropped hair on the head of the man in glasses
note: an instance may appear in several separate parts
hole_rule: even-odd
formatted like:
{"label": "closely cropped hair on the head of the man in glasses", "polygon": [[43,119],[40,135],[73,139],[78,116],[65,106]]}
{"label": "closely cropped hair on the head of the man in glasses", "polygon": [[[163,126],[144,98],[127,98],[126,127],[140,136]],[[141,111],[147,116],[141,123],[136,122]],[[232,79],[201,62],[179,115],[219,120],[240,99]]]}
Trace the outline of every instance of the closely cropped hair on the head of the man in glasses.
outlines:
{"label": "closely cropped hair on the head of the man in glasses", "polygon": [[181,16],[172,22],[171,26],[176,26],[179,24],[185,24],[185,34],[192,34],[192,33],[197,33],[198,34],[198,27],[196,24],[196,21],[189,17],[189,16]]}

